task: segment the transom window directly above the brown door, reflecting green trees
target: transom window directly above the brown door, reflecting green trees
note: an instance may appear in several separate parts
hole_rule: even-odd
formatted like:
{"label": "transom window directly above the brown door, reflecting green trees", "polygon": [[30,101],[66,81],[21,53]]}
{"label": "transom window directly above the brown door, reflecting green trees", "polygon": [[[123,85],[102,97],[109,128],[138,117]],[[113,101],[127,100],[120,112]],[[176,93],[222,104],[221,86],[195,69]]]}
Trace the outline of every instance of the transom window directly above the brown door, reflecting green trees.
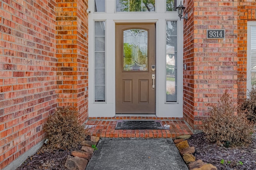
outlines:
{"label": "transom window directly above the brown door, reflecting green trees", "polygon": [[116,0],[116,12],[154,12],[155,0]]}

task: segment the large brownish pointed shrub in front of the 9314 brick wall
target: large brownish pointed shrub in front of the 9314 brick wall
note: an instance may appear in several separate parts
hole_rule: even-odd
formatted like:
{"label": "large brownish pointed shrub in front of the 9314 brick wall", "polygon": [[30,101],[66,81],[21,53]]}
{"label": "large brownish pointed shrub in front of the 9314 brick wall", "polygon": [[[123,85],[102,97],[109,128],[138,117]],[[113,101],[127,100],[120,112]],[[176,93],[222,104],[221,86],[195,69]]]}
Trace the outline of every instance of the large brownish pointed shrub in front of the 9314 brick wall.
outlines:
{"label": "large brownish pointed shrub in front of the 9314 brick wall", "polygon": [[237,112],[237,107],[227,92],[222,95],[218,107],[213,107],[210,114],[202,126],[210,142],[225,147],[251,143],[253,124],[246,119],[244,112]]}

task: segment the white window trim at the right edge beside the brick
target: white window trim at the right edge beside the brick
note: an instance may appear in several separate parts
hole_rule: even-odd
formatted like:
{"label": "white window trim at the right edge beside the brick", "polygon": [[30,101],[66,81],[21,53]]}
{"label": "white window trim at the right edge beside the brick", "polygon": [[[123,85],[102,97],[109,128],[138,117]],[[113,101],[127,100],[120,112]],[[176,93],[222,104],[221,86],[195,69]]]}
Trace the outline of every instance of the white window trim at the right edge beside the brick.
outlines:
{"label": "white window trim at the right edge beside the brick", "polygon": [[256,26],[256,21],[247,21],[247,82],[246,88],[251,90],[251,26]]}

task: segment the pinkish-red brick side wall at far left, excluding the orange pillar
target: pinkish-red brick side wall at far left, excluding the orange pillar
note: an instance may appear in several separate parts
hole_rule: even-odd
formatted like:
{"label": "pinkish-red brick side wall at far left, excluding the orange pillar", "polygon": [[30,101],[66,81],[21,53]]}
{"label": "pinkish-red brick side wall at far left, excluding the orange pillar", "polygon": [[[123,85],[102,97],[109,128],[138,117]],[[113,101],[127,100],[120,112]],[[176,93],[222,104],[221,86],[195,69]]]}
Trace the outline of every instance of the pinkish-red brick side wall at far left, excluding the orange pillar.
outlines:
{"label": "pinkish-red brick side wall at far left, excluding the orange pillar", "polygon": [[45,138],[57,107],[54,0],[0,1],[0,169]]}

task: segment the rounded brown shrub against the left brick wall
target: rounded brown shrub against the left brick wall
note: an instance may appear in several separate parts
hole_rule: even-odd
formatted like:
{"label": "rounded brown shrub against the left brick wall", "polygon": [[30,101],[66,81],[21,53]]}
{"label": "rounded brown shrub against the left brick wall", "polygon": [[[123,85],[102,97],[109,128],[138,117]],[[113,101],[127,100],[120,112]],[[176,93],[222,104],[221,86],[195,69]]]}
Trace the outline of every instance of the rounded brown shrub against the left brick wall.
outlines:
{"label": "rounded brown shrub against the left brick wall", "polygon": [[47,133],[50,148],[76,149],[85,139],[86,130],[78,121],[78,111],[62,107],[50,115],[44,130]]}

